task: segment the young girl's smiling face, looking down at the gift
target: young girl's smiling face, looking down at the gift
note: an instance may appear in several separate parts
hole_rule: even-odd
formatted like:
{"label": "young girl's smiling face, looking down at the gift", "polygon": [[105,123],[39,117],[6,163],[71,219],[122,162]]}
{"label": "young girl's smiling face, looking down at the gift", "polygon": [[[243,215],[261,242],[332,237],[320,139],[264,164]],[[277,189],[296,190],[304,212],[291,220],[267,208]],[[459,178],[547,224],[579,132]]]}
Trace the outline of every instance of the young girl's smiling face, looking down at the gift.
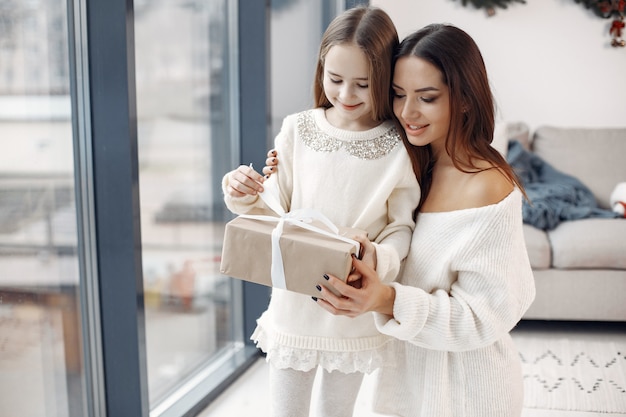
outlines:
{"label": "young girl's smiling face, looking down at the gift", "polygon": [[346,130],[366,130],[373,126],[369,90],[369,63],[353,44],[334,45],[324,60],[324,93],[333,105],[326,112],[328,121]]}

